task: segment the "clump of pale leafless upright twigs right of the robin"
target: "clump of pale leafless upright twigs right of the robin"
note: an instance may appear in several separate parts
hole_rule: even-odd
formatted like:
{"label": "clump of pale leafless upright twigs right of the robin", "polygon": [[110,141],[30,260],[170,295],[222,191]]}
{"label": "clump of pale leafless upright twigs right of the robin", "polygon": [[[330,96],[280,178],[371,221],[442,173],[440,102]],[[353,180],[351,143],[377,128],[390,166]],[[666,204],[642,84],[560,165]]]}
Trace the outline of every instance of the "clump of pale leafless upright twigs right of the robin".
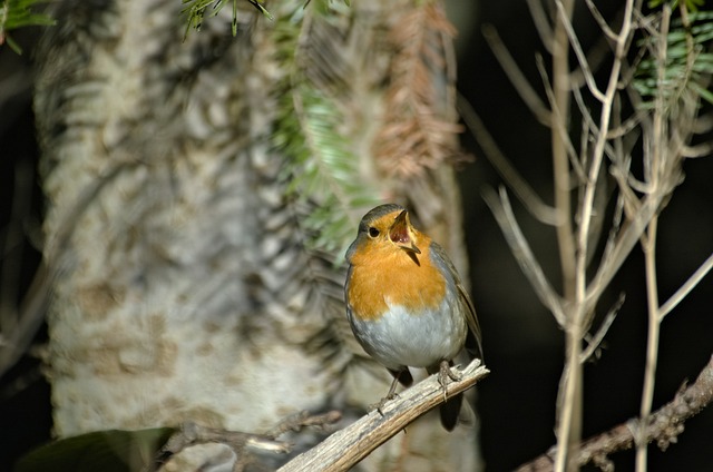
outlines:
{"label": "clump of pale leafless upright twigs right of the robin", "polygon": [[[534,17],[536,13],[539,16],[536,22],[540,21],[540,26],[544,24],[543,4],[530,0],[528,6],[533,10]],[[580,458],[578,448],[586,446],[586,444],[579,444],[582,422],[580,364],[597,351],[597,346],[613,323],[623,298],[608,312],[597,332],[590,335],[588,331],[592,327],[595,308],[614,275],[628,258],[636,244],[641,242],[646,255],[649,323],[647,361],[639,407],[641,422],[644,426],[637,429],[634,435],[637,445],[637,470],[644,471],[648,441],[646,425],[648,425],[651,417],[661,321],[713,268],[713,256],[711,256],[672,296],[670,302],[663,306],[658,305],[655,259],[657,214],[673,189],[682,181],[681,161],[684,155],[686,153],[694,154],[690,151],[688,141],[691,130],[696,122],[697,96],[695,94],[685,95],[682,91],[673,99],[663,102],[666,91],[664,86],[666,86],[666,81],[671,81],[665,70],[667,63],[667,14],[670,14],[666,9],[668,7],[665,7],[663,16],[658,17],[660,21],[651,21],[649,18],[645,18],[641,13],[642,0],[627,0],[623,6],[621,21],[616,21],[619,27],[618,32],[615,33],[594,2],[587,0],[587,6],[595,21],[604,32],[605,39],[603,41],[611,41],[611,49],[614,51],[608,79],[599,86],[593,75],[592,59],[585,56],[573,26],[573,1],[555,0],[554,6],[556,9],[550,14],[551,33],[543,36],[544,40],[551,41],[545,45],[553,56],[551,79],[547,78],[544,61],[539,58],[538,70],[543,77],[551,109],[549,128],[553,148],[555,210],[559,222],[557,239],[563,274],[561,297],[550,287],[527,240],[520,233],[505,191],[500,191],[499,199],[492,191],[486,194],[486,201],[492,209],[506,240],[538,297],[553,311],[557,323],[566,332],[565,368],[557,400],[557,448],[553,450],[553,455],[548,459],[549,468],[553,468],[554,462],[554,470],[558,472],[575,470],[577,458]],[[641,24],[635,26],[634,21]],[[547,27],[549,28],[549,23]],[[642,105],[641,97],[636,96],[632,86],[635,68],[629,68],[626,63],[635,27],[644,28],[651,36],[658,38],[657,46],[655,42],[651,42],[646,50],[647,55],[657,60],[658,83],[662,90],[656,97],[657,102],[653,112],[651,108],[639,106]],[[492,49],[497,51],[501,47],[499,38],[492,32],[487,32],[486,36],[494,38],[492,42],[496,46]],[[688,50],[692,50],[691,38],[686,39],[688,40]],[[570,49],[574,50],[579,65],[579,70],[572,73],[568,70]],[[597,51],[602,52],[604,49],[606,47]],[[501,52],[501,56],[505,55],[507,51]],[[687,69],[692,70],[692,57],[686,59],[688,59]],[[501,62],[507,63],[502,59]],[[508,76],[511,81],[518,82],[516,85],[518,92],[520,95],[529,94],[531,88],[528,85],[519,83],[524,80],[518,76],[519,69],[511,65],[504,65],[504,68],[511,69]],[[588,90],[590,96],[598,100],[598,118],[593,117],[583,97],[583,91],[579,90],[580,87]],[[629,105],[635,110],[624,121],[621,117],[622,110],[626,109],[626,104],[622,102],[623,89],[627,90]],[[578,106],[577,118],[582,118],[578,148],[575,148],[577,144],[573,142],[570,137],[570,121],[574,119],[572,119],[573,114],[569,110],[569,105],[573,95]],[[530,106],[530,108],[533,107]],[[677,116],[672,116],[672,109],[677,111]],[[537,115],[538,111],[535,110],[535,114]],[[538,119],[541,120],[543,116],[538,116]],[[632,171],[631,157],[632,147],[636,142],[641,142],[638,128],[641,128],[644,147],[642,178],[637,178]],[[606,180],[603,178],[606,175],[607,160],[605,159],[612,163],[611,171],[618,185],[618,197],[604,255],[600,257],[598,266],[590,267],[592,255],[597,248],[599,225],[606,210],[604,190]],[[573,213],[574,193],[578,193],[578,199],[576,200],[576,212]],[[592,269],[594,269],[593,276]],[[589,342],[584,352],[582,351],[583,340]]]}

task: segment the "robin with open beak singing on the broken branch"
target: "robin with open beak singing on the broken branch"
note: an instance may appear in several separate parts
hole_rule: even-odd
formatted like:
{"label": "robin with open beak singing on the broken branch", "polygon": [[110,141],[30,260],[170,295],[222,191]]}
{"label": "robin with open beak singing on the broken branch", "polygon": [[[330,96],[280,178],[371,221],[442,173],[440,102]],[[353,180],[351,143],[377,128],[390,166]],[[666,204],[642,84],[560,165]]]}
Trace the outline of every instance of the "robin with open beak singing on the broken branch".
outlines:
{"label": "robin with open beak singing on the broken branch", "polygon": [[[346,316],[354,336],[394,377],[382,403],[399,382],[413,382],[409,367],[438,372],[446,395],[448,377],[460,380],[451,366],[463,347],[470,358],[482,358],[476,311],[456,267],[411,225],[406,208],[388,204],[364,215],[346,260]],[[458,394],[441,405],[446,430],[456,426],[461,404]]]}

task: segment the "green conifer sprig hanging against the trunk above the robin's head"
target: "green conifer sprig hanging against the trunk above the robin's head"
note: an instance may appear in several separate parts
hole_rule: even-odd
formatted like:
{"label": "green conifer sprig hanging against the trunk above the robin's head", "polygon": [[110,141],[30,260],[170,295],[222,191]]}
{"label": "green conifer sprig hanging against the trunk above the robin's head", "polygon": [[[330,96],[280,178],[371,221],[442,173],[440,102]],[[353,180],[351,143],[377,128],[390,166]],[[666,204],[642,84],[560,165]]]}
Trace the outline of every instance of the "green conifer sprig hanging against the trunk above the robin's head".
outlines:
{"label": "green conifer sprig hanging against the trunk above the robin's head", "polygon": [[[297,7],[282,17],[273,31],[276,61],[285,76],[275,90],[279,116],[272,144],[284,156],[281,178],[290,195],[309,209],[303,220],[307,247],[336,256],[353,238],[359,223],[352,220],[353,209],[377,205],[378,193],[360,174],[360,159],[352,150],[355,144],[340,131],[348,120],[339,99],[321,82],[309,79],[322,77],[319,59],[295,59],[300,48],[315,48],[305,46],[307,39],[301,37],[304,14]],[[314,21],[329,21],[323,14],[334,13],[320,12]],[[313,73],[307,73],[304,68],[318,68],[318,72],[310,69]],[[341,263],[342,258],[333,260]]]}

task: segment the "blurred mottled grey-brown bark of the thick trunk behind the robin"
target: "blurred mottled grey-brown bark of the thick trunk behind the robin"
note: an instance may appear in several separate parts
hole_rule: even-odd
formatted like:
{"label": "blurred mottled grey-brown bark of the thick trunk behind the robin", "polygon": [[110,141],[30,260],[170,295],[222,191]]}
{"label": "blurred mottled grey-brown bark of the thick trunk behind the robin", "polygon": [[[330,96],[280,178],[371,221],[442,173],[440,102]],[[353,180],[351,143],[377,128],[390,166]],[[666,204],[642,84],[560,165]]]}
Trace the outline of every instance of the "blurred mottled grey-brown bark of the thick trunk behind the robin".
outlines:
{"label": "blurred mottled grey-brown bark of the thick trunk behind the robin", "polygon": [[[282,3],[271,11],[294,9]],[[383,30],[412,7],[387,3],[354,2],[329,24],[352,72],[345,132],[364,181],[413,207],[466,275],[452,170],[387,179],[370,153]],[[274,23],[247,8],[237,38],[226,8],[183,42],[179,1],[67,1],[38,52],[59,436],[183,421],[260,432],[301,410],[353,421],[388,390],[346,324],[341,256],[305,248],[311,207],[289,196],[271,145]],[[473,470],[476,430],[437,423],[420,420],[363,470]],[[295,437],[296,451],[320,437]]]}

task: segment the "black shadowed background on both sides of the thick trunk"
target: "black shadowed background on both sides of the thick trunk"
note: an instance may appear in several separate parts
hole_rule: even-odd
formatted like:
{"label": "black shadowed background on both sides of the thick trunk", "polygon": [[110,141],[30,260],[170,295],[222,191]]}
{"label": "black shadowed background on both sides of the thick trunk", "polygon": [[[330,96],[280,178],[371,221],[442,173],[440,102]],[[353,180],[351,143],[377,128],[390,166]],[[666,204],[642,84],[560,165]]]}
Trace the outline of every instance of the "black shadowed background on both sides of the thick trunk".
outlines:
{"label": "black shadowed background on both sides of the thick trunk", "polygon": [[[597,3],[607,17],[614,16],[621,6],[618,1]],[[584,6],[577,3],[577,8],[575,23],[586,48],[598,39],[599,31]],[[546,51],[526,2],[472,2],[457,18],[465,20],[462,26],[458,22],[460,91],[508,158],[545,201],[551,203],[549,131],[531,117],[515,94],[479,32],[485,23],[495,26],[520,68],[541,91],[535,53],[541,52],[546,58]],[[2,254],[2,265],[9,267],[3,276],[9,273],[18,277],[20,289],[16,299],[0,298],[6,304],[19,302],[39,260],[33,242],[39,240],[42,198],[35,174],[38,150],[30,100],[32,45],[40,32],[29,28],[14,35],[25,48],[23,56],[7,47],[0,49],[0,242],[8,236],[13,201],[20,198],[31,204],[20,214],[14,213],[16,218],[21,218],[25,240]],[[9,82],[13,73],[22,76]],[[9,88],[8,83],[19,86]],[[468,132],[463,134],[463,145],[476,156],[473,163],[463,166],[459,178],[473,299],[491,370],[479,386],[477,410],[487,466],[502,471],[535,458],[555,443],[555,401],[563,367],[564,333],[521,275],[481,198],[482,189],[497,186],[499,178]],[[657,260],[662,303],[713,250],[710,185],[713,159],[687,160],[684,169],[686,179],[660,219]],[[554,229],[536,222],[517,201],[514,205],[536,256],[550,281],[559,286]],[[606,312],[619,292],[626,293],[626,302],[605,338],[599,358],[585,366],[585,437],[636,416],[639,407],[647,323],[639,248],[634,249],[612,287],[598,312]],[[663,323],[654,409],[673,399],[681,385],[686,380],[693,381],[709,362],[713,353],[712,306],[713,276],[709,275]],[[38,341],[43,338],[45,330],[38,334]],[[0,380],[0,470],[9,469],[17,456],[50,437],[49,394],[38,363],[30,357],[22,358]],[[665,453],[655,445],[649,448],[649,470],[711,471],[711,444],[713,411],[709,409],[686,422],[678,442]],[[612,459],[616,470],[634,468],[632,452]]]}

